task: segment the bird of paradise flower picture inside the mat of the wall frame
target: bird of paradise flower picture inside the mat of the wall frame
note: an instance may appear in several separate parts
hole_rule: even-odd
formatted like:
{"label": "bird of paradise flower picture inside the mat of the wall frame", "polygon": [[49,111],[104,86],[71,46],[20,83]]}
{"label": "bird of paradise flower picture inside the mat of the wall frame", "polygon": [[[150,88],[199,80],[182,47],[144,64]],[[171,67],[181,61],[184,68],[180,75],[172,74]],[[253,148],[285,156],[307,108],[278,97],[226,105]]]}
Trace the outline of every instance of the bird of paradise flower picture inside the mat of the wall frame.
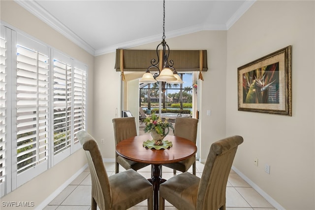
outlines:
{"label": "bird of paradise flower picture inside the mat of the wall frame", "polygon": [[244,104],[279,104],[279,62],[243,73]]}

